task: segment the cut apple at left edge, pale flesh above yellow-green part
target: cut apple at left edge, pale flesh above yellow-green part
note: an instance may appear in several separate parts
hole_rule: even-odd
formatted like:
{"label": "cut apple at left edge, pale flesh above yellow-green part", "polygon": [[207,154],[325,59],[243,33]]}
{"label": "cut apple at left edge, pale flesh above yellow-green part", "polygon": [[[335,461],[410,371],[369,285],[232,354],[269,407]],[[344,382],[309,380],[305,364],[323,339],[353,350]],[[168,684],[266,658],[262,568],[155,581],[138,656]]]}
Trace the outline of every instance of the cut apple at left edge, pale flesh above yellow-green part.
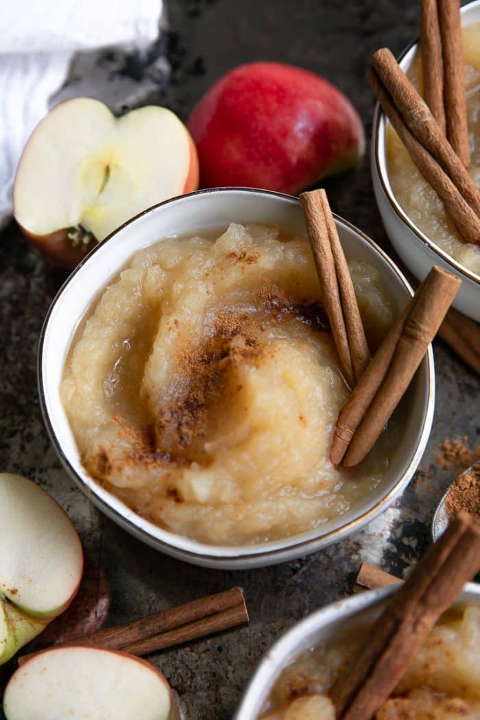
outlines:
{"label": "cut apple at left edge, pale flesh above yellow-green part", "polygon": [[83,572],[76,529],[45,490],[0,473],[0,665],[75,597]]}

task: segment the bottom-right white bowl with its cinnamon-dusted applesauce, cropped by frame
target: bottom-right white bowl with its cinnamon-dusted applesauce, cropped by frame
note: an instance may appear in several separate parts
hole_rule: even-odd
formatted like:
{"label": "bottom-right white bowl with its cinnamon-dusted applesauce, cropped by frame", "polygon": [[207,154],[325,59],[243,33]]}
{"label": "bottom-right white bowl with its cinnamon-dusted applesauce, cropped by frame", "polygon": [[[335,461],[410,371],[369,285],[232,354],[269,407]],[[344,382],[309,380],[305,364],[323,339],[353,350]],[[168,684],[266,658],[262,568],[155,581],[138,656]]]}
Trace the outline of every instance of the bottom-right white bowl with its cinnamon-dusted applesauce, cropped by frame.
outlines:
{"label": "bottom-right white bowl with its cinnamon-dusted applesauce, cropped by frame", "polygon": [[[318,610],[287,631],[258,665],[235,720],[335,720],[329,690],[395,586]],[[480,586],[468,582],[443,613],[376,720],[477,717]]]}

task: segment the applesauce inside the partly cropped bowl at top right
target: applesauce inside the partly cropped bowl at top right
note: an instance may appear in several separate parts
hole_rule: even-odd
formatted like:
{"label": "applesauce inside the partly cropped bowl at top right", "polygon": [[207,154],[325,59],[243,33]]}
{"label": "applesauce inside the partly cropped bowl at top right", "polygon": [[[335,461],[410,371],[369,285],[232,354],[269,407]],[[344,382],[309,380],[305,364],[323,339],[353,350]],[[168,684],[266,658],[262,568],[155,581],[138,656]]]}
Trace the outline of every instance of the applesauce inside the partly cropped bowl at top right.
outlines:
{"label": "applesauce inside the partly cropped bowl at top right", "polygon": [[[469,173],[480,186],[480,23],[463,29],[463,53],[467,87],[468,135],[471,166]],[[422,92],[420,53],[407,73]],[[466,268],[480,275],[480,246],[461,240],[435,190],[417,170],[391,125],[386,133],[386,156],[391,189],[405,214],[427,238]]]}

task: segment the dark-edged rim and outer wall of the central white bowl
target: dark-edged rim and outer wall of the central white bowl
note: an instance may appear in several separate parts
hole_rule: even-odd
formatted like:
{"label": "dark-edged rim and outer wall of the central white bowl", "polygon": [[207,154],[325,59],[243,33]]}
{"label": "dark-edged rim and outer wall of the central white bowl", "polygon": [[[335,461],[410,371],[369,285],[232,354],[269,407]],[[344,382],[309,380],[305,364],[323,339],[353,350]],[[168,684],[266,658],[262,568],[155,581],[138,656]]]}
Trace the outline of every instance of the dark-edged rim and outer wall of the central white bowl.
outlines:
{"label": "dark-edged rim and outer wall of the central white bowl", "polygon": [[[322,549],[333,542],[339,541],[340,539],[343,539],[345,536],[348,536],[349,534],[353,533],[354,531],[358,531],[363,526],[365,526],[367,523],[371,522],[374,518],[379,516],[381,512],[386,510],[386,508],[391,505],[391,503],[394,502],[394,500],[397,498],[397,496],[407,487],[409,481],[411,480],[416,467],[418,466],[418,463],[420,462],[420,458],[422,457],[423,452],[425,451],[425,446],[427,445],[428,438],[430,436],[430,430],[431,426],[433,424],[433,415],[435,410],[435,369],[434,369],[434,361],[433,361],[433,348],[430,343],[430,346],[427,350],[426,358],[427,358],[427,387],[425,389],[426,391],[426,407],[425,407],[425,413],[422,418],[422,426],[421,426],[421,432],[420,432],[420,438],[417,444],[417,447],[415,448],[415,451],[412,453],[412,457],[410,459],[409,464],[404,469],[404,472],[399,477],[399,480],[397,480],[397,483],[394,485],[394,487],[391,488],[389,492],[384,495],[383,498],[381,498],[373,507],[371,507],[369,510],[366,510],[366,512],[362,513],[358,518],[355,520],[350,521],[349,523],[345,523],[345,525],[340,526],[339,528],[333,529],[325,534],[321,534],[322,526],[317,528],[319,531],[319,534],[315,535],[314,537],[309,537],[307,539],[302,539],[303,534],[298,534],[296,536],[289,536],[284,539],[281,539],[283,541],[283,544],[279,547],[271,548],[269,545],[275,543],[280,544],[280,541],[271,541],[270,543],[261,543],[258,545],[244,545],[244,546],[217,546],[217,545],[207,545],[207,544],[201,544],[197,541],[194,541],[190,538],[186,538],[184,536],[181,536],[179,534],[173,533],[171,531],[164,531],[165,534],[169,536],[169,539],[171,538],[172,541],[167,541],[158,538],[158,536],[155,536],[152,534],[152,532],[149,531],[148,528],[152,528],[153,531],[155,531],[155,528],[158,530],[158,526],[155,526],[154,523],[151,523],[150,521],[145,520],[145,518],[142,518],[141,516],[137,515],[137,513],[134,513],[130,508],[127,508],[124,503],[122,503],[121,500],[118,500],[112,493],[107,492],[103,488],[101,488],[100,485],[96,483],[96,481],[92,478],[91,479],[91,485],[86,485],[86,482],[83,480],[83,478],[78,475],[76,472],[76,469],[73,467],[71,462],[69,461],[68,457],[63,453],[63,449],[60,446],[60,442],[58,441],[55,431],[53,429],[53,424],[50,422],[50,416],[47,410],[47,402],[46,402],[46,395],[47,392],[45,392],[45,385],[43,382],[43,372],[42,372],[42,354],[43,354],[43,347],[44,347],[44,341],[45,341],[45,335],[47,331],[47,325],[49,323],[50,317],[53,314],[53,310],[57,303],[60,301],[63,291],[65,288],[70,284],[73,277],[76,276],[76,274],[83,268],[83,266],[90,261],[92,256],[96,253],[96,251],[99,251],[101,248],[105,246],[106,243],[109,242],[109,240],[112,240],[117,233],[119,233],[120,230],[123,230],[123,228],[127,227],[133,222],[136,222],[140,217],[143,217],[144,215],[148,215],[150,212],[153,212],[154,210],[157,210],[160,207],[163,207],[164,205],[170,204],[172,202],[178,202],[182,199],[194,197],[196,195],[200,194],[212,194],[217,192],[249,192],[253,194],[264,194],[267,196],[273,196],[273,197],[279,197],[281,199],[288,200],[289,202],[299,203],[298,197],[295,197],[294,195],[289,195],[286,193],[281,192],[275,192],[272,190],[265,190],[262,188],[250,188],[250,187],[218,187],[218,188],[209,188],[204,190],[196,190],[195,192],[186,193],[184,195],[178,195],[176,197],[169,198],[168,200],[164,200],[163,202],[159,202],[155,205],[152,205],[151,207],[146,208],[145,210],[142,210],[142,212],[139,212],[134,217],[130,218],[130,220],[127,220],[126,222],[122,223],[122,225],[119,225],[119,228],[116,228],[110,235],[107,236],[99,245],[95,246],[86,256],[83,258],[81,263],[79,263],[76,268],[71,272],[71,274],[65,279],[65,282],[62,284],[60,289],[58,290],[57,294],[55,295],[53,302],[51,303],[49,309],[47,310],[47,315],[45,316],[45,320],[42,325],[42,329],[40,331],[40,340],[38,343],[38,350],[37,350],[37,387],[38,387],[38,394],[40,399],[40,409],[42,412],[42,417],[45,423],[45,427],[47,429],[48,436],[50,437],[50,441],[53,444],[53,447],[60,459],[60,462],[63,464],[63,467],[65,468],[66,472],[70,475],[70,477],[76,482],[78,487],[81,489],[81,491],[86,495],[87,498],[89,498],[94,504],[96,504],[98,507],[101,508],[101,510],[107,514],[110,518],[113,518],[115,522],[117,522],[120,526],[127,527],[127,529],[130,531],[131,534],[142,537],[142,540],[147,542],[150,545],[153,545],[156,549],[160,549],[162,552],[166,552],[166,554],[173,554],[174,557],[181,557],[181,559],[186,560],[187,562],[193,562],[199,563],[200,559],[204,561],[205,564],[208,564],[209,567],[243,567],[244,562],[255,562],[255,565],[261,566],[262,563],[259,562],[261,559],[265,559],[265,564],[270,564],[269,561],[273,557],[279,557],[277,562],[282,562],[284,559],[291,559],[294,557],[302,557],[303,555],[309,554],[309,552],[314,552],[316,550]],[[362,230],[359,230],[356,225],[353,225],[348,220],[344,220],[343,217],[340,217],[336,213],[333,213],[335,217],[335,221],[339,222],[341,225],[344,225],[346,228],[348,228],[353,233],[356,233],[357,235],[360,235],[363,240],[366,241],[366,243],[373,248],[381,258],[390,266],[390,269],[394,271],[394,273],[398,276],[400,282],[404,285],[407,292],[409,292],[410,295],[413,295],[412,287],[410,286],[409,282],[407,281],[407,278],[404,276],[402,271],[399,269],[399,267],[394,263],[391,258],[386,254],[382,248],[380,248],[371,238],[368,237],[365,233],[362,232]],[[132,251],[133,252],[133,251]],[[98,489],[98,492],[96,490]],[[127,517],[124,511],[117,510],[117,508],[112,505],[112,503],[107,502],[104,500],[104,498],[99,495],[99,491],[102,491],[104,495],[109,495],[109,497],[112,498],[112,501],[115,501],[117,505],[124,505],[124,507],[128,510],[128,515],[132,518],[135,518],[135,522],[132,521],[131,517]],[[163,528],[160,528],[163,529]],[[312,531],[309,531],[310,533]],[[187,549],[184,546],[177,545],[173,543],[173,540],[178,538],[182,541],[182,544],[184,541],[188,541],[189,546],[191,546],[189,549]],[[298,538],[298,541],[295,541],[295,538]],[[218,551],[224,552],[225,554],[221,554],[221,552],[215,552],[215,550],[218,549]],[[288,556],[286,556],[288,554]]]}

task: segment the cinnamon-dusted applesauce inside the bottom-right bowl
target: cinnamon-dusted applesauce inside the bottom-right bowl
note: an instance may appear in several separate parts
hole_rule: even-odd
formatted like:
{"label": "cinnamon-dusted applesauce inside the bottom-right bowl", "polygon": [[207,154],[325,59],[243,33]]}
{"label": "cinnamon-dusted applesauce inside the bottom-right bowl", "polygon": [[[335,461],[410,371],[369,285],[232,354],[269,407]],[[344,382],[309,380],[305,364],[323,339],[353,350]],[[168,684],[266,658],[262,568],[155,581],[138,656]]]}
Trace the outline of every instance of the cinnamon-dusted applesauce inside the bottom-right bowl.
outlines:
{"label": "cinnamon-dusted applesauce inside the bottom-right bowl", "polygon": [[[328,698],[361,643],[366,626],[307,650],[281,673],[263,720],[335,720]],[[376,720],[480,719],[480,606],[440,618]]]}

